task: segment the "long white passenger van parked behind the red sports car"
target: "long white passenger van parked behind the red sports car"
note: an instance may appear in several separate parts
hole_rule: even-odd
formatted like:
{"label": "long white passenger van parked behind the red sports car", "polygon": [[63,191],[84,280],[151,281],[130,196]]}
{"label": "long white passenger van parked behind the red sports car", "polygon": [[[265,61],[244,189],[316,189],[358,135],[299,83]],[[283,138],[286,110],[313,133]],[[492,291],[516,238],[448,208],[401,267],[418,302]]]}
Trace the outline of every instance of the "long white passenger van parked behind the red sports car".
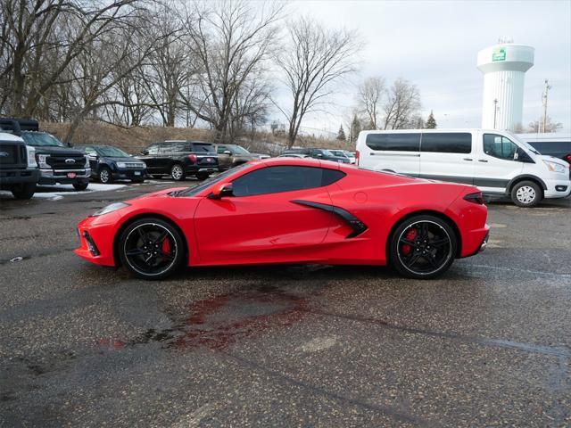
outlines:
{"label": "long white passenger van parked behind the red sports car", "polygon": [[357,164],[476,185],[483,193],[509,194],[520,207],[571,193],[566,161],[543,156],[509,131],[496,129],[362,131]]}

